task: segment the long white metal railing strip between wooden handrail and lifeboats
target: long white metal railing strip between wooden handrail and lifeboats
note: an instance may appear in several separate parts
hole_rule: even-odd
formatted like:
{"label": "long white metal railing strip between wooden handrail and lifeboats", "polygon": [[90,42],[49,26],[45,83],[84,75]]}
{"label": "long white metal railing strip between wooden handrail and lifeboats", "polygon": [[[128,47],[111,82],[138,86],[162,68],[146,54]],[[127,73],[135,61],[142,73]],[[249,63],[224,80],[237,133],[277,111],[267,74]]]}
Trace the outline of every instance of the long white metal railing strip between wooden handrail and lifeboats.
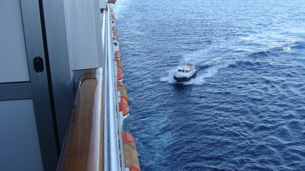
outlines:
{"label": "long white metal railing strip between wooden handrail and lifeboats", "polygon": [[111,26],[111,6],[107,4],[105,12],[105,36],[106,36],[106,59],[105,59],[105,162],[104,169],[109,171],[124,171],[124,156],[122,145],[122,117],[119,112],[119,99],[117,94],[116,67],[113,51],[113,32]]}

